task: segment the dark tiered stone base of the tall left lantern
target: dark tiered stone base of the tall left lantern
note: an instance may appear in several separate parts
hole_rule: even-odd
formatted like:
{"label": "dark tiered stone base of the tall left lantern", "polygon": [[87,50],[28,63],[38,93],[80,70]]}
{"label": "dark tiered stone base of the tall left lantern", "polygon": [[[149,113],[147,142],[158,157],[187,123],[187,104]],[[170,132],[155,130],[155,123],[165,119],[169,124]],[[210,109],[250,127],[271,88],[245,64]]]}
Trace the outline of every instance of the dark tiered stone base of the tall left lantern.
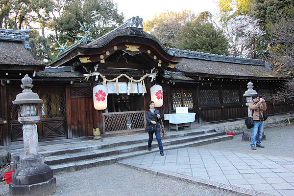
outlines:
{"label": "dark tiered stone base of the tall left lantern", "polygon": [[42,154],[20,157],[20,167],[9,184],[11,196],[49,196],[55,190],[56,178]]}

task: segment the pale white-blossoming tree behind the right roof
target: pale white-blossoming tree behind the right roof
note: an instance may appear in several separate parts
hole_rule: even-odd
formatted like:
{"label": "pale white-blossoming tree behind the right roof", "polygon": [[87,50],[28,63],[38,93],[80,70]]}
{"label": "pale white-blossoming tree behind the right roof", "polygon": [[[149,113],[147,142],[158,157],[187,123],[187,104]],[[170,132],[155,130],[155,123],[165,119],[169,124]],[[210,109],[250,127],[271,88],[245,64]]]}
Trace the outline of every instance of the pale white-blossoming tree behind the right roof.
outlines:
{"label": "pale white-blossoming tree behind the right roof", "polygon": [[265,32],[259,20],[248,15],[237,15],[223,24],[223,32],[229,42],[232,56],[254,58],[255,42]]}

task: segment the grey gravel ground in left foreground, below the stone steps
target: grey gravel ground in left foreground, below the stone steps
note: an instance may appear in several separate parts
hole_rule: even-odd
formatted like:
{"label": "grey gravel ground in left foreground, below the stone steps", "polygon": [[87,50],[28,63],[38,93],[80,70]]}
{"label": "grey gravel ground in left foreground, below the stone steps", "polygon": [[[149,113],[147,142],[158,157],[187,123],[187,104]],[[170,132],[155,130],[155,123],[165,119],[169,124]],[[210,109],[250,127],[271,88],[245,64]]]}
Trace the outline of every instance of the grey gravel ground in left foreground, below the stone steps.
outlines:
{"label": "grey gravel ground in left foreground, below the stone steps", "polygon": [[[238,196],[118,164],[55,177],[55,196]],[[0,182],[0,196],[8,196],[8,185],[4,182]]]}

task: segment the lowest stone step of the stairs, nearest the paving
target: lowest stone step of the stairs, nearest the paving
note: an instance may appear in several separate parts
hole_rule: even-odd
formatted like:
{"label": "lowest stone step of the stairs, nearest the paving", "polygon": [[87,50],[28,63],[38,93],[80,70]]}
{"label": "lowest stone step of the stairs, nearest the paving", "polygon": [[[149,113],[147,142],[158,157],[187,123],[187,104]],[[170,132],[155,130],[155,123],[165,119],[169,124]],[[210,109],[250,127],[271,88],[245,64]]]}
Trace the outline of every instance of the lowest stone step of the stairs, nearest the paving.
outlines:
{"label": "lowest stone step of the stairs, nearest the paving", "polygon": [[[164,149],[165,151],[167,151],[171,149],[184,148],[184,147],[196,147],[196,146],[210,144],[214,142],[229,140],[232,138],[233,138],[232,135],[220,135],[220,136],[214,136],[214,137],[200,139],[200,140],[186,142],[186,143],[168,145],[168,146],[164,146]],[[152,149],[152,151],[141,150],[141,151],[134,151],[134,152],[124,152],[121,154],[115,154],[115,155],[104,156],[99,158],[92,158],[92,159],[74,161],[70,163],[50,165],[50,167],[53,170],[54,174],[73,172],[73,171],[82,170],[86,168],[92,168],[92,167],[97,167],[102,165],[110,165],[124,158],[130,158],[133,156],[138,156],[138,155],[143,155],[143,154],[158,152],[158,151],[159,150],[156,148],[156,149]]]}

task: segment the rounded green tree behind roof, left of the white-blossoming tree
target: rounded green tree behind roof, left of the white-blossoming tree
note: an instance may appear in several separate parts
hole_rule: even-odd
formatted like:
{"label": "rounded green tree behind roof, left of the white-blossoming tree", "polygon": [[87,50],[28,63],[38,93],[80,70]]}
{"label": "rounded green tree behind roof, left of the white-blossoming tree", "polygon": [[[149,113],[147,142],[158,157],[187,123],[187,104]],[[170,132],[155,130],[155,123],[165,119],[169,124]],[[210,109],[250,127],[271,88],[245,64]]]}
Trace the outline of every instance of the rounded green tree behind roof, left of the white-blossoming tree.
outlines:
{"label": "rounded green tree behind roof, left of the white-blossoming tree", "polygon": [[177,38],[181,49],[228,55],[228,41],[210,22],[187,22]]}

